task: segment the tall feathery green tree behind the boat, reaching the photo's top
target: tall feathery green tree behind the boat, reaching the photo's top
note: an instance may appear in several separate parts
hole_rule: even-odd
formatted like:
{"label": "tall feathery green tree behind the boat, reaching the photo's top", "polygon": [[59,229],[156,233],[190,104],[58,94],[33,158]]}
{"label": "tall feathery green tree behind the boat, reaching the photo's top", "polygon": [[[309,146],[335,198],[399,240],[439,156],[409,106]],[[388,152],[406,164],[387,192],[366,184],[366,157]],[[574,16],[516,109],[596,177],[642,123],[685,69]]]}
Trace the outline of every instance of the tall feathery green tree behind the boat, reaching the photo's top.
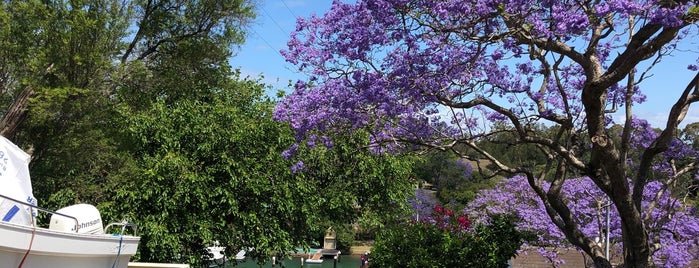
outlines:
{"label": "tall feathery green tree behind the boat, reaching the photo's top", "polygon": [[[42,204],[107,202],[111,185],[133,172],[132,148],[118,132],[126,122],[121,103],[194,96],[207,80],[230,75],[227,59],[252,7],[237,0],[0,3],[0,107],[7,107],[0,134],[32,153]],[[205,72],[212,69],[218,73]]]}

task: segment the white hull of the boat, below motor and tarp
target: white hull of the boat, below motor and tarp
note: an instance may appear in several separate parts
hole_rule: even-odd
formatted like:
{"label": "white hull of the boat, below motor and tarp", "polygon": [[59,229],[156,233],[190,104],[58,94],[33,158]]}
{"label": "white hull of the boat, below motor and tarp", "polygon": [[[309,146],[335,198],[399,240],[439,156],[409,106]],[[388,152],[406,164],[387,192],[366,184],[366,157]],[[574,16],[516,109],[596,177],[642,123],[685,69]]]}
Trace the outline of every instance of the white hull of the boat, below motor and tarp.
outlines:
{"label": "white hull of the boat, below motor and tarp", "polygon": [[[0,268],[125,268],[139,237],[77,234],[0,222]],[[31,245],[31,248],[30,248]],[[25,258],[26,255],[26,258]]]}

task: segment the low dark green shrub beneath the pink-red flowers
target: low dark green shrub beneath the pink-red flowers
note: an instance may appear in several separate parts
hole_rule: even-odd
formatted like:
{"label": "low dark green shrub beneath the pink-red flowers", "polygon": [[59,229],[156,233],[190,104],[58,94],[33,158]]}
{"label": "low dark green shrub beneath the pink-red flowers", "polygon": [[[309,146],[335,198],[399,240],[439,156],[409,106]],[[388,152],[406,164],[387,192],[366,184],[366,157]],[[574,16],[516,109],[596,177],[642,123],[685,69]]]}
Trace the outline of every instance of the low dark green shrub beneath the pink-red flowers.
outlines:
{"label": "low dark green shrub beneath the pink-red flowers", "polygon": [[490,223],[459,224],[452,214],[383,230],[371,252],[371,267],[508,267],[525,234],[515,218],[493,215]]}

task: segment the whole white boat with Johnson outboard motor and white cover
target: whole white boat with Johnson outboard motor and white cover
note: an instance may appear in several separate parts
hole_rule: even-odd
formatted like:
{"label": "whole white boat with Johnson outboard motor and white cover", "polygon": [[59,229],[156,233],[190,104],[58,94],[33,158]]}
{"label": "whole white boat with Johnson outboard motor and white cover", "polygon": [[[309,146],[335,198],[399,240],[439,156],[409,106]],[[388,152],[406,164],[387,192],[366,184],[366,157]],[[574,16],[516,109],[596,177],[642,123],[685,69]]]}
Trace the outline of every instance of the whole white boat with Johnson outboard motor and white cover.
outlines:
{"label": "whole white boat with Johnson outboard motor and white cover", "polygon": [[[128,267],[140,240],[135,224],[102,228],[99,212],[87,204],[40,208],[31,193],[29,155],[0,136],[0,160],[0,268]],[[37,226],[37,212],[51,214],[49,228]]]}

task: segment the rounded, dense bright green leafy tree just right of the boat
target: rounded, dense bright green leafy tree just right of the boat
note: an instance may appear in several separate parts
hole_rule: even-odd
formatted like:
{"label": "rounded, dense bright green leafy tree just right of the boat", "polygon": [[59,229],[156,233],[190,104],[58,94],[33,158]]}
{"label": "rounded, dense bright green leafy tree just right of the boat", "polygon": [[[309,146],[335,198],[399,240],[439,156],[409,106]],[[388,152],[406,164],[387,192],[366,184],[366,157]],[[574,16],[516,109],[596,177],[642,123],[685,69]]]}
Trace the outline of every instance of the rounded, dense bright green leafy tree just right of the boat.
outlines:
{"label": "rounded, dense bright green leafy tree just right of the boat", "polygon": [[291,136],[269,116],[256,81],[231,79],[208,102],[160,100],[131,118],[140,174],[119,189],[122,214],[142,224],[140,258],[196,264],[212,241],[268,256],[300,243],[313,193],[280,152]]}

